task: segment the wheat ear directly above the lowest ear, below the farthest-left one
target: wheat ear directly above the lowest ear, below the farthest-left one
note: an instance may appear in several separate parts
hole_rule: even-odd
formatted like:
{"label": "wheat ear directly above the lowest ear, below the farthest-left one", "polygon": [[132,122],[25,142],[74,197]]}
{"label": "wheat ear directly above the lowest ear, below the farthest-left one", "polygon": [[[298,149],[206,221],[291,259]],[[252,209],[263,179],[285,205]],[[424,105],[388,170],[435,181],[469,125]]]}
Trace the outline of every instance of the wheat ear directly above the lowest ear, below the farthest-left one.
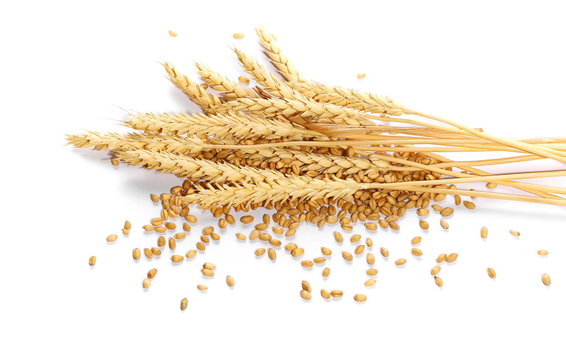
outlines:
{"label": "wheat ear directly above the lowest ear, below the farthest-left one", "polygon": [[195,159],[188,156],[149,150],[119,151],[116,158],[127,164],[176,175],[192,180],[216,183],[257,183],[284,179],[277,171],[235,166],[229,163]]}

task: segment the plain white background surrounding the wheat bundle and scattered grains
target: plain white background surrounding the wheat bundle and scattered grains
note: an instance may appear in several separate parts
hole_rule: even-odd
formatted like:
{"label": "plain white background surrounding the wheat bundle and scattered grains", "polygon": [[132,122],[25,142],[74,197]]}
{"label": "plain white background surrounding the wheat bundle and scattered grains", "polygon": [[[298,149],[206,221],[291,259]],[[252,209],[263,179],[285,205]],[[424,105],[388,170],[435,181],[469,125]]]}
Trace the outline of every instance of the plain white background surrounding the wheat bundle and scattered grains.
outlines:
{"label": "plain white background surrounding the wheat bundle and scattered grains", "polygon": [[[308,77],[371,90],[425,112],[509,137],[564,136],[566,71],[560,1],[21,1],[0,11],[2,255],[0,358],[546,358],[563,359],[566,313],[565,209],[479,200],[458,209],[442,231],[431,215],[422,234],[414,213],[398,233],[371,235],[378,282],[364,289],[367,265],[344,265],[335,229],[303,227],[296,241],[315,256],[332,247],[332,275],[302,270],[284,252],[255,259],[259,244],[222,232],[192,263],[131,260],[155,236],[150,192],[175,177],[64,146],[64,134],[125,131],[125,110],[194,111],[165,79],[160,62],[193,74],[201,61],[239,74],[231,47],[260,56],[253,28],[265,26]],[[179,36],[172,38],[172,29]],[[244,32],[236,41],[232,33]],[[263,61],[263,60],[262,60]],[[366,72],[360,81],[356,73]],[[547,164],[560,168],[555,163]],[[547,181],[546,183],[551,183]],[[563,179],[553,184],[564,185]],[[449,202],[448,202],[449,203]],[[195,210],[195,214],[200,211]],[[107,245],[129,219],[129,238]],[[199,224],[213,223],[208,215]],[[481,226],[490,236],[479,237]],[[361,226],[360,226],[361,227]],[[519,239],[508,230],[521,231]],[[200,227],[179,243],[183,254]],[[249,232],[249,230],[246,230]],[[363,228],[356,229],[364,236]],[[409,240],[423,236],[422,259]],[[343,248],[351,248],[345,243]],[[541,258],[536,250],[550,251]],[[458,252],[429,275],[440,252]],[[94,269],[87,265],[96,255]],[[408,258],[403,269],[392,260]],[[204,280],[203,261],[218,265]],[[153,286],[141,280],[156,266]],[[485,268],[496,269],[490,280]],[[553,279],[542,285],[541,273]],[[229,290],[224,276],[232,274]],[[299,298],[300,281],[314,287]],[[198,293],[206,283],[208,294]],[[321,287],[345,291],[325,302]],[[352,300],[356,292],[367,303]],[[182,297],[189,308],[179,310]]]}

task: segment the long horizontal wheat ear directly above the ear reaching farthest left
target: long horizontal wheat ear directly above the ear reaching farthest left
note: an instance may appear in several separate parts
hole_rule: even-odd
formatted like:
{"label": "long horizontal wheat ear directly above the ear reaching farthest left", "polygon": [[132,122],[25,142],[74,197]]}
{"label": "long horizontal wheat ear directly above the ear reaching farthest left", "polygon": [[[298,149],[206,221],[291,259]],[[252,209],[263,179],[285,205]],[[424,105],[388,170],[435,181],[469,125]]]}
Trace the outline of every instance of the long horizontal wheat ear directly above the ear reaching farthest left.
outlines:
{"label": "long horizontal wheat ear directly above the ear reaching farthest left", "polygon": [[218,139],[329,139],[321,133],[307,130],[287,120],[268,119],[243,113],[217,115],[137,113],[130,115],[124,125],[146,132],[188,136],[202,135]]}

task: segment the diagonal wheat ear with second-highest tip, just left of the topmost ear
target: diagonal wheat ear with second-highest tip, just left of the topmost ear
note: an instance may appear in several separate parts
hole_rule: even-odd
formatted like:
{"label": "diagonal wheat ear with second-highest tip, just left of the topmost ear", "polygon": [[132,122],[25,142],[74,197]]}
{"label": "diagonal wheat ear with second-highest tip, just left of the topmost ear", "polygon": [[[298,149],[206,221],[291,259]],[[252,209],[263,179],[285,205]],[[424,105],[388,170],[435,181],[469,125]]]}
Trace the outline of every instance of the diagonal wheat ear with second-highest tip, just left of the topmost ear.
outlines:
{"label": "diagonal wheat ear with second-highest tip, just left of the topmost ear", "polygon": [[238,49],[234,49],[234,52],[236,53],[238,60],[240,61],[240,64],[242,65],[244,70],[248,74],[250,74],[250,76],[252,76],[258,84],[263,86],[265,88],[264,90],[269,94],[281,99],[309,101],[306,96],[294,90],[285,82],[279,80],[251,56]]}

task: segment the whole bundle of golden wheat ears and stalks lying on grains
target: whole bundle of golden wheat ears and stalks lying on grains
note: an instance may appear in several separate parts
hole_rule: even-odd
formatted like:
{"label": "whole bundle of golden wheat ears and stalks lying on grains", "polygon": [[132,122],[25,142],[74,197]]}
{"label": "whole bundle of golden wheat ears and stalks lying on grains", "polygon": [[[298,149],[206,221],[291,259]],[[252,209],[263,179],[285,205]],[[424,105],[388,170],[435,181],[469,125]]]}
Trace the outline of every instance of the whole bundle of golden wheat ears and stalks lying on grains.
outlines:
{"label": "whole bundle of golden wheat ears and stalks lying on grains", "polygon": [[[170,80],[201,113],[131,114],[124,125],[136,132],[70,135],[69,143],[109,150],[114,162],[186,178],[164,210],[198,204],[220,216],[266,207],[287,226],[340,220],[348,228],[352,220],[381,219],[395,227],[407,209],[426,208],[446,195],[454,195],[457,205],[461,196],[566,205],[565,188],[517,181],[564,176],[566,170],[479,169],[538,159],[566,163],[566,138],[500,138],[386,97],[310,81],[272,35],[263,29],[257,35],[278,74],[239,50],[254,86],[201,64],[203,82],[197,83],[165,63]],[[453,161],[444,152],[517,155]],[[455,185],[478,182],[487,190]],[[498,191],[505,187],[525,194]]]}

